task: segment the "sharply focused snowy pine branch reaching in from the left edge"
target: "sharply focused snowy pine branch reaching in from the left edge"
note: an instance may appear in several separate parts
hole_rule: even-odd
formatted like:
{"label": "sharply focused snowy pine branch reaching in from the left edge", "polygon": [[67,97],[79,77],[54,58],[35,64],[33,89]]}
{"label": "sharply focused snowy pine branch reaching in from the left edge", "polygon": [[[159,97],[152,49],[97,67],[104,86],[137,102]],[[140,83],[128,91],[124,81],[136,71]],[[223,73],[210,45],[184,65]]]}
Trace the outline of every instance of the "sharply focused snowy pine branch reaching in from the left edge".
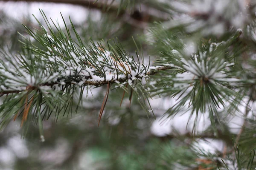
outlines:
{"label": "sharply focused snowy pine branch reaching in from the left edge", "polygon": [[[42,15],[45,17],[43,13]],[[66,35],[58,27],[55,27],[57,32],[54,32],[47,22],[51,34],[49,35],[47,28],[40,22],[38,24],[41,31],[32,31],[27,26],[25,28],[34,39],[33,43],[39,43],[43,48],[38,48],[24,37],[24,48],[20,54],[1,52],[0,96],[4,97],[3,104],[0,105],[1,126],[16,119],[18,114],[23,114],[23,124],[29,117],[31,120],[42,121],[48,119],[52,113],[58,115],[61,111],[71,112],[76,89],[80,89],[80,102],[87,85],[98,87],[108,84],[108,96],[110,84],[117,84],[128,92],[127,86],[124,86],[127,83],[141,101],[143,109],[148,114],[152,112],[143,101],[150,94],[142,80],[157,71],[170,68],[170,65],[149,67],[138,55],[136,61],[114,40],[102,43],[90,41],[89,45],[84,45],[72,22],[78,43],[71,38],[67,27]],[[14,107],[9,107],[12,104]],[[29,116],[29,113],[32,115]],[[44,115],[43,118],[41,115]]]}

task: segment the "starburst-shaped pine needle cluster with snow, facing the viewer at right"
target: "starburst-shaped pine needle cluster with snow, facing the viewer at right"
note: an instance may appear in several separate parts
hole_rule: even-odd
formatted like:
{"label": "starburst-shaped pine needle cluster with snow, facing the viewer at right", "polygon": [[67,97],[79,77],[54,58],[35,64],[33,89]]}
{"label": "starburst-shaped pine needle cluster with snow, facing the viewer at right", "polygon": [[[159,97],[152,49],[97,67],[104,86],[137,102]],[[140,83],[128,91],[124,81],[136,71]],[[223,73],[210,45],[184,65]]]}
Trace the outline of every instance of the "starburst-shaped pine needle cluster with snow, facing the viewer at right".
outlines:
{"label": "starburst-shaped pine needle cluster with snow, facing the viewer at right", "polygon": [[186,40],[192,37],[175,29],[160,26],[151,30],[157,48],[161,48],[156,65],[172,65],[168,71],[163,71],[161,77],[151,78],[151,84],[155,86],[151,95],[175,99],[166,112],[168,116],[187,112],[195,114],[193,130],[197,129],[201,114],[209,115],[212,126],[216,127],[216,120],[220,122],[220,111],[232,113],[241,105],[244,96],[249,95],[253,100],[255,78],[248,79],[247,71],[249,73],[254,64],[250,62],[244,67],[244,61],[238,62],[246,49],[241,43],[246,32],[235,31],[224,41],[201,38],[197,43],[192,42],[195,48],[188,50]]}

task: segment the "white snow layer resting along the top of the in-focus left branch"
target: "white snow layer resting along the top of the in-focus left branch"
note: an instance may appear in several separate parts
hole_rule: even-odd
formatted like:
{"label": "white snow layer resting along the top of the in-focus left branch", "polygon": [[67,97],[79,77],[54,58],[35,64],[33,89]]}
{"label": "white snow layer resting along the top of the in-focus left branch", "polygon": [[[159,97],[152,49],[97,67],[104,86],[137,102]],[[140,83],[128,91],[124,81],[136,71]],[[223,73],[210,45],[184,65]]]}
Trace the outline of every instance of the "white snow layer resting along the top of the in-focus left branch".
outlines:
{"label": "white snow layer resting along the top of the in-focus left branch", "polygon": [[[55,46],[53,50],[56,52],[64,49]],[[33,54],[30,59],[25,58],[27,54],[20,55],[16,58],[20,63],[10,56],[2,56],[7,61],[0,62],[0,95],[19,93],[28,90],[28,87],[30,90],[36,90],[64,85],[100,86],[108,82],[138,80],[156,71],[168,69],[167,66],[149,67],[139,64],[129,54],[121,58],[98,45],[90,50],[84,48],[84,51],[68,47],[66,50],[69,55],[66,57],[63,52],[59,55],[53,54],[50,48],[48,51],[40,51],[41,55]],[[33,65],[34,68],[29,65]]]}

